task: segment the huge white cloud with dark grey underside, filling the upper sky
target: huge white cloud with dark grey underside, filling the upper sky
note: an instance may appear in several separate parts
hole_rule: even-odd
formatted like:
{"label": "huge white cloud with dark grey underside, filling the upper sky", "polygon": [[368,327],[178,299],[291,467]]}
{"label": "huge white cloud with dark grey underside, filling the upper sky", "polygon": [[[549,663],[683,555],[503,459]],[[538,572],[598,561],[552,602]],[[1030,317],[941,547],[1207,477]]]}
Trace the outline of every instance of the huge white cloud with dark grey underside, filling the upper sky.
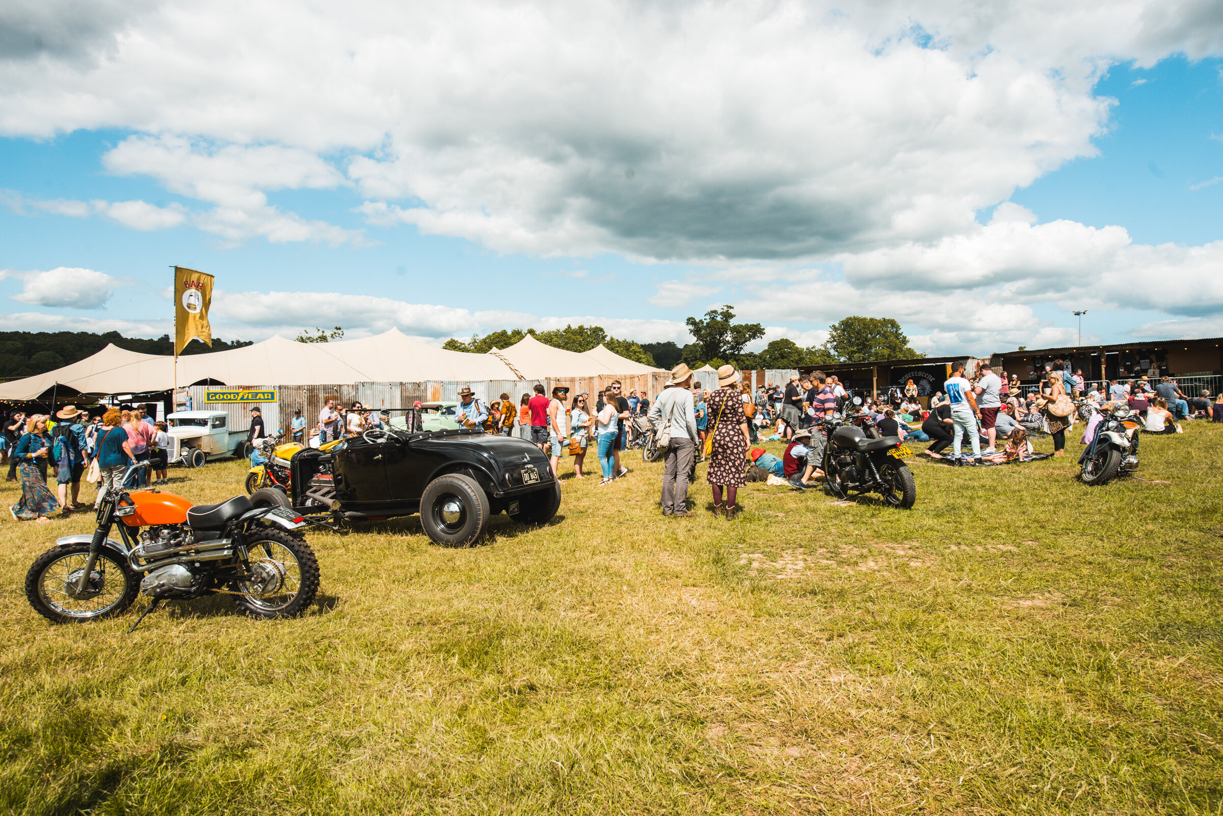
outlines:
{"label": "huge white cloud with dark grey underside, filling the upper sky", "polygon": [[213,203],[199,226],[226,239],[357,239],[264,197],[351,181],[371,222],[646,259],[963,232],[1092,154],[1110,64],[1223,46],[1211,0],[183,0],[60,17],[7,11],[0,133],[135,131],[108,167]]}

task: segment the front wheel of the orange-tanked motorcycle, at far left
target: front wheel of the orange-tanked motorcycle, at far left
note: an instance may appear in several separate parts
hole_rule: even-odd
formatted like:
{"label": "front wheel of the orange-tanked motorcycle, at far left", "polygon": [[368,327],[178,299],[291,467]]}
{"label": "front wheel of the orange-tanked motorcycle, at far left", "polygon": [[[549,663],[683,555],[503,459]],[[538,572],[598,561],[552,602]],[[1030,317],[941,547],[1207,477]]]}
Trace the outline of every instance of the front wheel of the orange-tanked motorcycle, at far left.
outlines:
{"label": "front wheel of the orange-tanked motorcycle, at far left", "polygon": [[40,555],[26,573],[26,599],[55,623],[98,621],[121,613],[139,591],[139,578],[122,557],[103,550],[84,591],[78,590],[89,544],[66,544]]}

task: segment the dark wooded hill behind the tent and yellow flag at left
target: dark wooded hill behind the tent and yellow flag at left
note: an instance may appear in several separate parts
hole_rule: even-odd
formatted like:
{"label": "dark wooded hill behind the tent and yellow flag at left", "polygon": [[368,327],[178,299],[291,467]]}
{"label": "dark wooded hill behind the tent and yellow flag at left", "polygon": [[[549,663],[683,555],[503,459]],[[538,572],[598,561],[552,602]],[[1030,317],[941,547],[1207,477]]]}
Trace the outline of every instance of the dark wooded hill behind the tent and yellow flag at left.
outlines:
{"label": "dark wooded hill behind the tent and yellow flag at left", "polygon": [[[104,335],[92,331],[0,331],[0,379],[12,380],[54,371],[68,363],[97,354],[110,343],[142,354],[174,353],[174,343],[170,342],[169,335],[161,335],[157,340],[144,340],[124,337],[117,331],[108,331]],[[226,342],[214,337],[212,348],[199,341],[192,341],[182,353],[203,354],[251,344],[252,342],[247,340]]]}

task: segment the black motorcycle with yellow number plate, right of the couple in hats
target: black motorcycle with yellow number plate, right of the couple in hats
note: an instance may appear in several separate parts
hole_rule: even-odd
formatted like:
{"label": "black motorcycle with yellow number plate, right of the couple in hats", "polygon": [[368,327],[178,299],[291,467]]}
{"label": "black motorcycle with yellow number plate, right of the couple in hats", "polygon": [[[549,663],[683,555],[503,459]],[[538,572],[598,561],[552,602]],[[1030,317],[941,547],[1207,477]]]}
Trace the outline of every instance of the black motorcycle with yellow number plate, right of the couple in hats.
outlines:
{"label": "black motorcycle with yellow number plate, right of the couple in hats", "polygon": [[[854,397],[854,407],[861,404],[862,398]],[[824,418],[828,443],[823,472],[828,491],[841,500],[850,492],[874,492],[888,505],[909,509],[917,501],[917,483],[904,457],[912,456],[912,450],[898,436],[868,436],[860,426],[863,417],[870,420],[870,414],[859,413]]]}

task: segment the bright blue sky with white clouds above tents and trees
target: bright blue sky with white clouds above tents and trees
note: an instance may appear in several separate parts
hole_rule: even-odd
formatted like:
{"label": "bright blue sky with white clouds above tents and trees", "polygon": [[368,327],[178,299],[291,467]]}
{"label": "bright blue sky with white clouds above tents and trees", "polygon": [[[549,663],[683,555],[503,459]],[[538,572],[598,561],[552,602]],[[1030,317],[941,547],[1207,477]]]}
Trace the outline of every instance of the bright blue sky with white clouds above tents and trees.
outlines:
{"label": "bright blue sky with white clouds above tents and trees", "polygon": [[[832,26],[804,7],[795,26],[755,7],[745,28],[728,7],[670,28],[615,17],[642,40],[620,65],[433,38],[454,50],[295,97],[290,72],[248,56],[207,82],[203,61],[150,75],[164,53],[117,39],[125,26],[179,26],[163,49],[218,48],[172,5],[42,35],[59,44],[5,68],[5,329],[161,333],[182,264],[216,276],[216,333],[253,340],[340,322],[440,342],[585,320],[682,343],[684,318],[720,303],[805,344],[848,314],[895,316],[932,353],[1074,342],[1073,308],[1090,309],[1095,342],[1223,333],[1223,60],[1200,27],[1156,48],[1137,22],[1051,17],[1044,53],[1004,18],[965,31],[934,4],[898,28],[921,38],[881,48],[887,21]],[[508,20],[554,45],[566,26],[598,37],[587,23],[613,6]],[[302,15],[323,51],[380,53],[377,27],[330,42],[347,21]],[[405,44],[417,27],[478,40],[505,23],[490,15],[383,22]],[[247,22],[242,54],[264,37]],[[711,39],[739,59],[706,62]],[[313,70],[307,46],[269,48]],[[509,84],[484,94],[448,62]],[[745,73],[759,84],[739,88]]]}

